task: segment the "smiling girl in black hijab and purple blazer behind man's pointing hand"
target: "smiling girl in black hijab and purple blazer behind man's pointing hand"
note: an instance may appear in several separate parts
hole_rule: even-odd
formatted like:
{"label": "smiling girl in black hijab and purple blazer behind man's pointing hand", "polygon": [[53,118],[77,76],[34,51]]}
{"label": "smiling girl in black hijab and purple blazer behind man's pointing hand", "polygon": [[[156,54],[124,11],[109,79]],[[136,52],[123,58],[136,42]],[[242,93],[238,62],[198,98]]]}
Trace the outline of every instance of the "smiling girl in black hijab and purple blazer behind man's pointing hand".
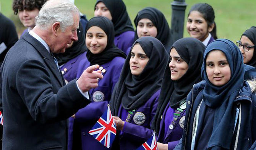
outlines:
{"label": "smiling girl in black hijab and purple blazer behind man's pointing hand", "polygon": [[[102,105],[110,101],[111,93],[118,81],[126,55],[114,45],[114,27],[107,17],[100,16],[90,19],[86,25],[85,33],[85,43],[88,51],[86,52],[86,58],[79,63],[77,77],[88,66],[99,64],[99,69],[102,71],[104,78],[99,80],[96,88],[88,91],[93,102],[80,109],[73,118],[70,118],[68,148],[70,150],[72,148],[74,150],[91,150],[92,148],[105,150],[107,148],[94,139],[88,131],[103,114],[106,107],[102,107]],[[102,101],[104,103],[94,103]],[[81,141],[81,143],[77,144],[78,141]]]}

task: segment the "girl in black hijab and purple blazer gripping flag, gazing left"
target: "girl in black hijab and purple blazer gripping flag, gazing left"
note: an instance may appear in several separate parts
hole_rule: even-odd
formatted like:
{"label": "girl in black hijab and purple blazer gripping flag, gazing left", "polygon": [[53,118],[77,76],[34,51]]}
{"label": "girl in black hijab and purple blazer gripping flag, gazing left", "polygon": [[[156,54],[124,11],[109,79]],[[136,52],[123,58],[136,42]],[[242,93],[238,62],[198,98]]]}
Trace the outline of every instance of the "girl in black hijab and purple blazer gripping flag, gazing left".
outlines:
{"label": "girl in black hijab and purple blazer gripping flag, gazing left", "polygon": [[119,132],[113,150],[134,150],[152,136],[150,124],[167,61],[168,54],[158,39],[143,37],[133,44],[110,101]]}

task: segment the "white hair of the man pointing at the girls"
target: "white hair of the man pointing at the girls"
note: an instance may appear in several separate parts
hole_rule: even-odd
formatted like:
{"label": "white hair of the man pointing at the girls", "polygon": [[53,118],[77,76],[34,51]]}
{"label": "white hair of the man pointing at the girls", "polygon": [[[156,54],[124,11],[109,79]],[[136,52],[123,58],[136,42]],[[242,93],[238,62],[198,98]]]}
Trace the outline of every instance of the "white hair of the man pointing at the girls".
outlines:
{"label": "white hair of the man pointing at the girls", "polygon": [[46,30],[55,22],[60,22],[60,30],[64,32],[66,27],[74,24],[75,14],[79,15],[79,10],[68,0],[49,0],[36,16],[36,25],[41,30]]}

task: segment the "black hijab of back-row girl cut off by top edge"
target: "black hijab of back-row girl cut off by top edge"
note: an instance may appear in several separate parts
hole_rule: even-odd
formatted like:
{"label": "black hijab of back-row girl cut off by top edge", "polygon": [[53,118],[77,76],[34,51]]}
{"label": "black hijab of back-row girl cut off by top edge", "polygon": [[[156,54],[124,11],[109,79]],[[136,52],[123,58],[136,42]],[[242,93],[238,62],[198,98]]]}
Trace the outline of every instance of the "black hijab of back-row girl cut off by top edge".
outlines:
{"label": "black hijab of back-row girl cut off by top edge", "polygon": [[94,9],[99,2],[104,3],[110,11],[115,28],[115,36],[126,31],[134,31],[125,3],[122,0],[97,0]]}

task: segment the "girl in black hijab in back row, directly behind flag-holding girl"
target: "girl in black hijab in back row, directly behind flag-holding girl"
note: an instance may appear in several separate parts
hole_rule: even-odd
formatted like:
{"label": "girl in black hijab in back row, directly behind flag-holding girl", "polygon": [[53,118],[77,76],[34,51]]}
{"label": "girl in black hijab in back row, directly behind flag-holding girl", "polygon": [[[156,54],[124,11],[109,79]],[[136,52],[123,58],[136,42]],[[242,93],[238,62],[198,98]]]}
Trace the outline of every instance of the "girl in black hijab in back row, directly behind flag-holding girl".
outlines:
{"label": "girl in black hijab in back row, directly behind flag-holding girl", "polygon": [[[156,8],[146,7],[139,11],[134,19],[136,31],[134,41],[143,36],[152,36],[164,45],[167,53],[173,44],[169,25],[164,17],[164,14]],[[127,49],[126,54],[130,49]]]}

